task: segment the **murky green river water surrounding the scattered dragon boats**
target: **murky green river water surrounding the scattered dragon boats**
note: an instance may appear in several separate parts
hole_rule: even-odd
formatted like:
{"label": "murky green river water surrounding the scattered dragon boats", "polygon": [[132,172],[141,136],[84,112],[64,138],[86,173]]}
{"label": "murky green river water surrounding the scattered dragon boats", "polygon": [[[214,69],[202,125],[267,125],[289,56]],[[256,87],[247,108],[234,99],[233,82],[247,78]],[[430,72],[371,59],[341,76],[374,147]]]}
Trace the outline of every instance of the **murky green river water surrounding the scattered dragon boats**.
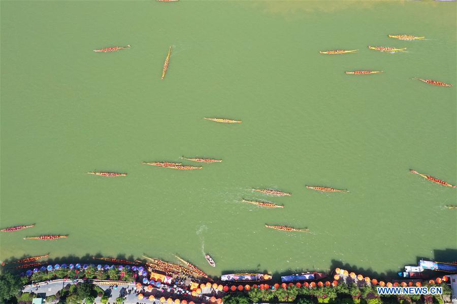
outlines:
{"label": "murky green river water surrounding the scattered dragon boats", "polygon": [[[455,25],[455,2],[1,1],[1,227],[36,226],[2,233],[0,258],[179,254],[210,275],[454,260],[456,190],[408,170],[457,183]],[[223,162],[141,164],[181,156]],[[69,238],[22,239],[44,234]]]}

